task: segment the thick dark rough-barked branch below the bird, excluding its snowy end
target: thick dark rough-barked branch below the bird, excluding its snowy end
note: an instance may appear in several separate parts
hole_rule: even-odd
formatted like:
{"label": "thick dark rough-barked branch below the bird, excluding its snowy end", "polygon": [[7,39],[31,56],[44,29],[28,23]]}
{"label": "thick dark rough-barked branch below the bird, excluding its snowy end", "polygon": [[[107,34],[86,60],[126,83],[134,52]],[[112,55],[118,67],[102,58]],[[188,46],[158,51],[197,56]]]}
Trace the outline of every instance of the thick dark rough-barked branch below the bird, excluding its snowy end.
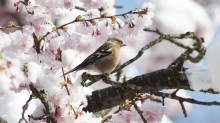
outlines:
{"label": "thick dark rough-barked branch below the bird, excluding its snowy end", "polygon": [[[151,93],[162,89],[175,88],[190,90],[189,83],[181,66],[182,62],[168,69],[162,69],[132,78],[122,83],[121,87],[111,86],[94,91],[92,95],[87,98],[88,106],[84,110],[97,112],[111,108],[124,102],[125,99],[132,99],[136,93]],[[103,81],[106,82],[107,80],[103,79]],[[130,89],[130,86],[128,87],[126,84],[138,87],[136,89]],[[117,86],[120,85],[117,83]]]}

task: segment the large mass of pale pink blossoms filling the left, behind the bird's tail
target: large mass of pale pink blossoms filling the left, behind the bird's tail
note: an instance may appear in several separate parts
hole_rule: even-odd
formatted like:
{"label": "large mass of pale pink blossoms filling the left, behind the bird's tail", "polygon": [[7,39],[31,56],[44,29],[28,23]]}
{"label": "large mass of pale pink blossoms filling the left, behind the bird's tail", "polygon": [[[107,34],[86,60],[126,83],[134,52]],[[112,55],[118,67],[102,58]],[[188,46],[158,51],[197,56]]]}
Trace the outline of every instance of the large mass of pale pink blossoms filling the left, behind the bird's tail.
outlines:
{"label": "large mass of pale pink blossoms filling the left, behind the bird's tail", "polygon": [[[70,66],[74,60],[73,54],[78,52],[77,46],[85,39],[104,42],[109,37],[123,38],[139,34],[144,27],[152,24],[151,18],[154,16],[155,6],[144,3],[140,9],[117,15],[123,16],[127,21],[124,22],[117,16],[101,14],[98,8],[103,7],[107,0],[28,0],[26,2],[19,1],[14,5],[17,7],[17,12],[19,12],[19,4],[25,6],[27,11],[25,19],[29,25],[24,25],[20,30],[9,34],[0,31],[0,101],[4,100],[4,96],[9,91],[31,92],[29,85],[32,84],[36,89],[44,90],[49,100],[50,112],[59,123],[101,122],[101,118],[94,118],[92,113],[82,110],[87,105],[86,96],[91,95],[92,89],[81,85],[80,76],[69,76],[71,82],[64,80],[60,77],[62,68]],[[77,16],[72,23],[75,25],[75,32],[68,33],[66,26],[58,28],[54,24],[54,19],[62,18],[69,11],[74,11],[76,5],[83,6],[87,11]],[[129,14],[133,16],[129,17]],[[69,94],[64,88],[66,85]],[[152,103],[144,105],[152,105]],[[40,104],[29,115],[42,116],[43,110],[44,106]],[[143,113],[149,121],[152,120],[150,116],[154,117],[151,114],[153,110],[146,109]],[[162,116],[164,112],[161,111]],[[122,111],[121,114],[128,113]],[[154,121],[161,119],[161,117],[154,118]],[[35,122],[32,118],[28,121]],[[39,122],[46,122],[46,119]]]}

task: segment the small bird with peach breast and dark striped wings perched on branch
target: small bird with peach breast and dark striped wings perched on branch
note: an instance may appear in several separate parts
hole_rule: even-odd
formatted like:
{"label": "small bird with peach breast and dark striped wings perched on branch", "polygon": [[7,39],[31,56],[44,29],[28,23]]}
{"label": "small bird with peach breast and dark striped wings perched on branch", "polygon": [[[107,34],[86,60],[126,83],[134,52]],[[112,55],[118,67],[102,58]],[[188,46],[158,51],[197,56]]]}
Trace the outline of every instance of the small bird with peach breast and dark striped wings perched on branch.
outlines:
{"label": "small bird with peach breast and dark striped wings perched on branch", "polygon": [[109,38],[94,53],[88,56],[81,64],[63,74],[66,75],[78,70],[93,70],[108,75],[115,69],[120,60],[120,49],[126,46],[117,38]]}

